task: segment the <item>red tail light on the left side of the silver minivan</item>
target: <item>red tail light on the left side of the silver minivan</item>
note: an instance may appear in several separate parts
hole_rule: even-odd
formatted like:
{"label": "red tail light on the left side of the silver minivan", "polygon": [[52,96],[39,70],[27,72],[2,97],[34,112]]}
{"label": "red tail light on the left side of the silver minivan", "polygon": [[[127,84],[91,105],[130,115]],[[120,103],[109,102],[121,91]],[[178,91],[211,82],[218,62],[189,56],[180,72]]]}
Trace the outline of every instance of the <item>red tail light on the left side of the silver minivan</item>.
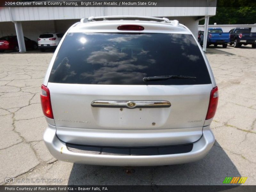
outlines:
{"label": "red tail light on the left side of the silver minivan", "polygon": [[41,87],[40,98],[44,115],[53,119],[50,91],[45,85]]}

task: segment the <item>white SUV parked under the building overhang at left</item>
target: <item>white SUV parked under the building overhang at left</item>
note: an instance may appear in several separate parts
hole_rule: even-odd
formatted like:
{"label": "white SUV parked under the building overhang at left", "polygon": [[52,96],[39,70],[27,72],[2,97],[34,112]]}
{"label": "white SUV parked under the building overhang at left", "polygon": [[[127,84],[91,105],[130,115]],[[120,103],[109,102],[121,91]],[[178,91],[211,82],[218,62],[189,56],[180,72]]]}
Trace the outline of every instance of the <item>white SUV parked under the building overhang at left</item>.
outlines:
{"label": "white SUV parked under the building overhang at left", "polygon": [[44,52],[46,49],[56,49],[63,33],[43,33],[38,37],[38,48]]}

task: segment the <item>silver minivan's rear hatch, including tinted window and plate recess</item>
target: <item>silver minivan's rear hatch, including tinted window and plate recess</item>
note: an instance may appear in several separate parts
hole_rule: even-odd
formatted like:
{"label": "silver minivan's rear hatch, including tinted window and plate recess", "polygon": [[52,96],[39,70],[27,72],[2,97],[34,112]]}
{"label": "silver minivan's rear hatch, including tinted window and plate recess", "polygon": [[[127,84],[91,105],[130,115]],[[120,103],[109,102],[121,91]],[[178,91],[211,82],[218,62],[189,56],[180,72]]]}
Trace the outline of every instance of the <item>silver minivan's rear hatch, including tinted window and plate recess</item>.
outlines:
{"label": "silver minivan's rear hatch, including tinted window and plate recess", "polygon": [[[195,78],[143,81],[169,75]],[[212,83],[190,34],[68,33],[47,87],[57,135],[64,141],[59,133],[65,128],[191,128],[200,132],[196,141],[202,135]]]}

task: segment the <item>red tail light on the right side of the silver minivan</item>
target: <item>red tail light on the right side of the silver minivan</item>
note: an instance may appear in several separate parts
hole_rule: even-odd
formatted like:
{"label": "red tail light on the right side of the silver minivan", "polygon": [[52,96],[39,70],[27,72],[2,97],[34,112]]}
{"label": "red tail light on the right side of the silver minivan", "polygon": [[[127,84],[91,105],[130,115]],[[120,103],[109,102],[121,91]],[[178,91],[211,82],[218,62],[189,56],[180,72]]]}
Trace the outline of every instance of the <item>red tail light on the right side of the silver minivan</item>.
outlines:
{"label": "red tail light on the right side of the silver minivan", "polygon": [[219,99],[218,87],[214,87],[211,91],[209,107],[208,107],[205,120],[211,119],[212,117],[214,117],[217,110],[218,99]]}

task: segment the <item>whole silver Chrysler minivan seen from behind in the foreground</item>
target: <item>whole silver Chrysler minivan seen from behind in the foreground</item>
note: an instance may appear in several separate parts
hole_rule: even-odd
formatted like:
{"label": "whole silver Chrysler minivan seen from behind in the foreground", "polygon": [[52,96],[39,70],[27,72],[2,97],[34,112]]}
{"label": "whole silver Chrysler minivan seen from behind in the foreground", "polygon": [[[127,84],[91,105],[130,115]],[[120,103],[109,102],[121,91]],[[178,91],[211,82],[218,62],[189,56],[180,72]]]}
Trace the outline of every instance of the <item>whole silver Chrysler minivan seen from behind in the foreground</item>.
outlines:
{"label": "whole silver Chrysler minivan seen from behind in the foreground", "polygon": [[44,142],[62,161],[180,164],[214,143],[218,88],[197,39],[177,20],[82,19],[52,57],[41,102]]}

